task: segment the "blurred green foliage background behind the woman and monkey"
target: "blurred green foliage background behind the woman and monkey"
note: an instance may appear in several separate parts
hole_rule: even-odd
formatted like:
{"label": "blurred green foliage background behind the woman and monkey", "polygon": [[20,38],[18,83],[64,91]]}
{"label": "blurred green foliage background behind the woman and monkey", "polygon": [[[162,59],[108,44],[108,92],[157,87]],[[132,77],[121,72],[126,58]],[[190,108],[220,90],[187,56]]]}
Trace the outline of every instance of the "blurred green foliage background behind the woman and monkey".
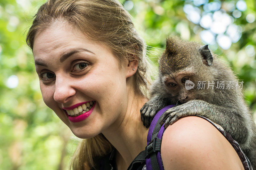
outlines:
{"label": "blurred green foliage background behind the woman and monkey", "polygon": [[[68,169],[79,141],[44,104],[33,55],[25,43],[32,16],[44,2],[0,0],[0,170]],[[201,41],[200,32],[205,29],[189,21],[183,11],[185,4],[195,6],[193,1],[121,2],[146,40],[148,56],[155,68],[168,34]],[[244,81],[245,100],[252,114],[256,115],[256,22],[255,19],[248,22],[246,18],[248,14],[256,17],[256,1],[245,0],[247,8],[241,11],[239,18],[232,16],[232,10],[228,11],[228,7],[234,6],[237,0],[211,2],[221,3],[221,9],[234,19],[234,24],[239,26],[242,34],[240,40],[228,49],[217,44],[210,48],[223,57]],[[203,5],[197,8],[205,12]],[[15,85],[17,80],[18,85]]]}

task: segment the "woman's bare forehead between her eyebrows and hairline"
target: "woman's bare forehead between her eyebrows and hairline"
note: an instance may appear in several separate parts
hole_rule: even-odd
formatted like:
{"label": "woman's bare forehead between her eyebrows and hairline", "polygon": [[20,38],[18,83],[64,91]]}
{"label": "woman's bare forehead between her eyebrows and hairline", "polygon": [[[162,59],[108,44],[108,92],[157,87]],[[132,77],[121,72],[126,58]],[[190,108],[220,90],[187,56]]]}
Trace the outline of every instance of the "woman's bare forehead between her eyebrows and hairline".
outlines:
{"label": "woman's bare forehead between her eyebrows and hairline", "polygon": [[[90,40],[70,25],[51,26],[36,34],[33,46],[34,57],[40,55],[60,55],[73,49],[86,49],[88,52],[108,50],[99,42]],[[84,51],[86,51],[84,50]],[[93,53],[93,52],[92,52]]]}

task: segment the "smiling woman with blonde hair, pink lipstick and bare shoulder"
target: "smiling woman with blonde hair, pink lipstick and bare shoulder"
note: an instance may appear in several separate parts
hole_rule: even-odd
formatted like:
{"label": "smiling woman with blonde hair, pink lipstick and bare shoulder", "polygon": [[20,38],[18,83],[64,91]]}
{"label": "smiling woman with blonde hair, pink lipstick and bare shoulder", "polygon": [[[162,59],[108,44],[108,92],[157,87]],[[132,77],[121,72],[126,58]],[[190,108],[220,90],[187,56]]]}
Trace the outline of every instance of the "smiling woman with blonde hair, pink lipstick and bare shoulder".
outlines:
{"label": "smiling woman with blonde hair, pink lipstick and bare shoulder", "polygon": [[[99,168],[115,148],[126,169],[147,145],[140,108],[148,101],[145,43],[117,0],[50,0],[27,35],[45,104],[84,140],[74,169]],[[161,147],[165,169],[244,169],[228,140],[196,116],[169,126]]]}

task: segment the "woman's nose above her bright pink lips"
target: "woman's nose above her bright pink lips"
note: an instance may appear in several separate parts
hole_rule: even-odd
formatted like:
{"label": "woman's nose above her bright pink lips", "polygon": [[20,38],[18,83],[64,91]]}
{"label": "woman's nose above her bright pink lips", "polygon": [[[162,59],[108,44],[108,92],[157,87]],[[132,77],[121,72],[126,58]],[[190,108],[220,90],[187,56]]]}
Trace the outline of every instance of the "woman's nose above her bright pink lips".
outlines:
{"label": "woman's nose above her bright pink lips", "polygon": [[76,90],[72,87],[72,81],[68,78],[59,77],[55,79],[55,92],[53,99],[59,103],[68,102],[72,96],[76,94]]}

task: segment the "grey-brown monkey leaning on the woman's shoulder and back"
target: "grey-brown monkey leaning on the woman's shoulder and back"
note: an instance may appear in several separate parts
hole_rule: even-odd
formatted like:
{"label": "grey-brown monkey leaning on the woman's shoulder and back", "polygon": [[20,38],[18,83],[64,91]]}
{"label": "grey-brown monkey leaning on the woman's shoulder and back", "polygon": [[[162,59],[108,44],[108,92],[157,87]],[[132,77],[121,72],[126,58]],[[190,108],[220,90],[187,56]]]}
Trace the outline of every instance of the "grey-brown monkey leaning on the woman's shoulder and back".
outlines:
{"label": "grey-brown monkey leaning on the woman's shoulder and back", "polygon": [[[151,86],[150,99],[140,109],[143,125],[149,127],[156,113],[172,104],[175,106],[166,110],[161,120],[165,128],[181,117],[204,116],[238,142],[256,169],[256,127],[241,83],[231,68],[207,44],[177,36],[166,39],[158,63],[159,74]],[[229,85],[225,87],[223,82]]]}

